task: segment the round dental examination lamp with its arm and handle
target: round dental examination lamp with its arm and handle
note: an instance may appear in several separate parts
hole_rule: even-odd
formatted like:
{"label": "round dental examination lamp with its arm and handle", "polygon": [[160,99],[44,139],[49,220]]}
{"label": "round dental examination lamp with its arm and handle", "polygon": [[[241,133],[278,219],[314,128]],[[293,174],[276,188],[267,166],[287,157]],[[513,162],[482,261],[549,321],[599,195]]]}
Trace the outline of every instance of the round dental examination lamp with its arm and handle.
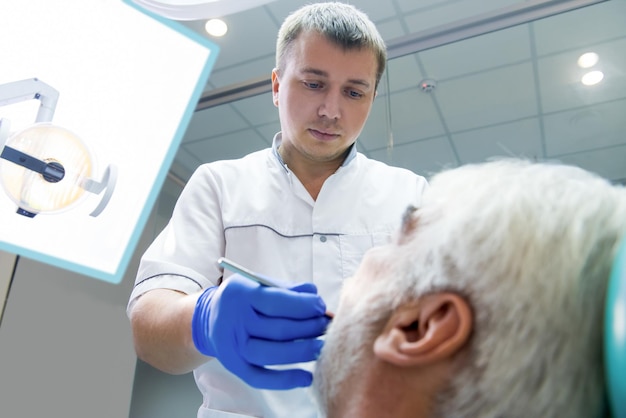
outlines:
{"label": "round dental examination lamp with its arm and handle", "polygon": [[117,168],[107,166],[100,181],[93,180],[94,162],[87,146],[71,131],[51,123],[59,92],[31,78],[0,84],[0,106],[39,100],[35,124],[10,133],[10,121],[0,118],[0,183],[18,206],[17,213],[34,217],[74,206],[87,193],[104,191],[90,216],[109,203]]}

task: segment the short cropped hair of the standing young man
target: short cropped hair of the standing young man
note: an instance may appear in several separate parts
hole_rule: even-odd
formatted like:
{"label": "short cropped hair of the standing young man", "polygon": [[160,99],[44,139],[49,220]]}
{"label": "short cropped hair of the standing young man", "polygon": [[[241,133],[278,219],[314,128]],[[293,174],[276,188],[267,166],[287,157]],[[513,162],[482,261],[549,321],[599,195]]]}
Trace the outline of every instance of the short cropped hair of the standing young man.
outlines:
{"label": "short cropped hair of the standing young man", "polygon": [[387,64],[387,47],[374,23],[354,6],[339,3],[306,5],[285,19],[278,31],[276,68],[285,65],[293,41],[303,32],[317,32],[345,49],[369,49],[378,63],[376,86]]}

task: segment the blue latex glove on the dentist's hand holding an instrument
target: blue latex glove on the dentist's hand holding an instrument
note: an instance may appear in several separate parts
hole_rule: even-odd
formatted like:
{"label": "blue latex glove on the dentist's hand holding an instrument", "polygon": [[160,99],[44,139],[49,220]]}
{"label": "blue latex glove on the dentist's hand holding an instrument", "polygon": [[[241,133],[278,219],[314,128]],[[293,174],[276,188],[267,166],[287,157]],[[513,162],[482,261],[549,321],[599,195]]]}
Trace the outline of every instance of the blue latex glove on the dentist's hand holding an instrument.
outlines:
{"label": "blue latex glove on the dentist's hand holding an instrument", "polygon": [[311,385],[301,369],[273,370],[267,365],[316,360],[330,319],[312,283],[267,287],[238,274],[199,297],[192,319],[193,342],[202,354],[250,386],[292,389]]}

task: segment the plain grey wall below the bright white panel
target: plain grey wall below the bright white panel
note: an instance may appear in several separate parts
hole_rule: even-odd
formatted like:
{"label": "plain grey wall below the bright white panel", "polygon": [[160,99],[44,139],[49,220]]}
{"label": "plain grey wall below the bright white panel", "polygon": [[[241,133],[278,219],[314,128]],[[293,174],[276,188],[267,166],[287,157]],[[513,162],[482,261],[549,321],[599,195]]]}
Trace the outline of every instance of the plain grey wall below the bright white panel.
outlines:
{"label": "plain grey wall below the bright white panel", "polygon": [[[17,258],[0,326],[0,417],[129,416],[137,359],[126,303],[155,218],[118,285]],[[12,258],[2,256],[0,284]]]}

